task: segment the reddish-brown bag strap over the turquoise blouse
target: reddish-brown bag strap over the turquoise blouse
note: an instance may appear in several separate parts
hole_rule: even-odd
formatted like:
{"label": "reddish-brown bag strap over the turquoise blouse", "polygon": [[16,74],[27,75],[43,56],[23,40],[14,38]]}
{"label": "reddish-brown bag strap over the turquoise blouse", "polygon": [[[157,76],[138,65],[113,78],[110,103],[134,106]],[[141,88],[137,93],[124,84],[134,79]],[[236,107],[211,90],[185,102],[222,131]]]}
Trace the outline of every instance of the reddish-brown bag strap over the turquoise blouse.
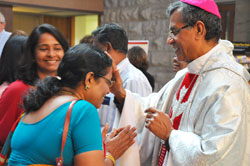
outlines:
{"label": "reddish-brown bag strap over the turquoise blouse", "polygon": [[74,106],[74,104],[76,102],[77,102],[77,100],[73,100],[70,103],[69,108],[67,110],[67,114],[66,114],[66,118],[65,118],[65,122],[64,122],[64,127],[63,127],[63,134],[62,134],[61,156],[60,156],[60,158],[56,159],[57,166],[62,166],[63,165],[63,149],[64,149],[64,146],[65,146],[68,131],[69,131],[69,123],[70,123],[71,112],[72,112],[73,106]]}

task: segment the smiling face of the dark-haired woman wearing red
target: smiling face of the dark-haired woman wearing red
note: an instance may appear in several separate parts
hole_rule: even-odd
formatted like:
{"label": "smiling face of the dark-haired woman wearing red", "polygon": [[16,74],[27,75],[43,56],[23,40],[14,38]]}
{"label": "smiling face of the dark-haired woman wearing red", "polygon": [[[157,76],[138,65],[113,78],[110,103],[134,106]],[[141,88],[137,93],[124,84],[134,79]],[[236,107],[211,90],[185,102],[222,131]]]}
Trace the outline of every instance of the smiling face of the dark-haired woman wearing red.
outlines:
{"label": "smiling face of the dark-haired woman wearing red", "polygon": [[56,75],[64,50],[53,35],[46,32],[40,36],[35,54],[39,77]]}

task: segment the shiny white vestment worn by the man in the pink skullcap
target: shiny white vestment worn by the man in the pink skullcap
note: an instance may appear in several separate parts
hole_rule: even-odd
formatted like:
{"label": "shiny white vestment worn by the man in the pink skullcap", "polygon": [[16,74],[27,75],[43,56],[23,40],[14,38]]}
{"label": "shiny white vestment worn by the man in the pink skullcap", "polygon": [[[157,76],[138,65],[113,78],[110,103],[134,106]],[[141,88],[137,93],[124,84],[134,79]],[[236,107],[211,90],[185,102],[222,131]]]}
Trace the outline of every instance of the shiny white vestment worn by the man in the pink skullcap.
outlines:
{"label": "shiny white vestment worn by the man in the pink skullcap", "polygon": [[[249,165],[250,75],[228,56],[231,52],[231,43],[220,42],[148,97],[126,90],[122,116],[136,118],[135,125],[142,137],[142,166],[156,166],[160,151],[160,139],[144,127],[144,110],[149,107],[166,113],[173,109],[172,122],[182,113],[178,130],[170,134],[170,150],[163,165]],[[176,103],[176,92],[187,72],[199,76],[187,102]]]}

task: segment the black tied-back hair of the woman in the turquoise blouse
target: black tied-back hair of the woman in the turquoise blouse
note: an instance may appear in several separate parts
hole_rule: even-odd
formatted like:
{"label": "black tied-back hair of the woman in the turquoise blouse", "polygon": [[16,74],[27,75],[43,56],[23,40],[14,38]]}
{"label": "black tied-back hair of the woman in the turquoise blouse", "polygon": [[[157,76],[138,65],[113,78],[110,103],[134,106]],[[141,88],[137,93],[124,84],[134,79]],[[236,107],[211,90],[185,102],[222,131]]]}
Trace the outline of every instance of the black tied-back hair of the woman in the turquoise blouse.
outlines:
{"label": "black tied-back hair of the woman in the turquoise blouse", "polygon": [[78,44],[70,48],[58,67],[58,77],[48,76],[39,81],[36,89],[24,97],[25,112],[38,110],[49,98],[58,95],[62,87],[76,89],[89,72],[94,73],[95,79],[106,75],[111,66],[111,58],[97,47]]}

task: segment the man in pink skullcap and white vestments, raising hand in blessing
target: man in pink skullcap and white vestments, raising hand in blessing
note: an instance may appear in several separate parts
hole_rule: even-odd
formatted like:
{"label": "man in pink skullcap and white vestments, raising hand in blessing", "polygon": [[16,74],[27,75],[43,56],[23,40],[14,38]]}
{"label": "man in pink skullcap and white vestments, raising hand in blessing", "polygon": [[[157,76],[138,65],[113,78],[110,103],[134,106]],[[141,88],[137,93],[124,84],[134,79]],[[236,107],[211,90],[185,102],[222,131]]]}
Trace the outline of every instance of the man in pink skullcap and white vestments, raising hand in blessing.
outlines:
{"label": "man in pink skullcap and white vestments, raising hand in blessing", "polygon": [[231,44],[219,42],[216,3],[180,0],[168,14],[167,43],[187,68],[146,98],[123,89],[113,70],[111,92],[123,103],[122,113],[136,116],[138,134],[147,128],[142,165],[248,166],[250,75],[230,57]]}

